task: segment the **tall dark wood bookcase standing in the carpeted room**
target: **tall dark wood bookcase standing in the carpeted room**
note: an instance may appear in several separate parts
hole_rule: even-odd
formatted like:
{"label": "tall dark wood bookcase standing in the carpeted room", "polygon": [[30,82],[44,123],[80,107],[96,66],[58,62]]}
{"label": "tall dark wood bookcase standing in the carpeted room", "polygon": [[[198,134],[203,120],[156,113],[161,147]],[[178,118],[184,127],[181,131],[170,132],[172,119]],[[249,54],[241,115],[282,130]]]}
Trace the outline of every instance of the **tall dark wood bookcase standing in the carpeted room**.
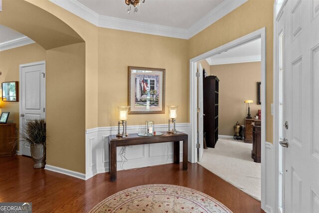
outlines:
{"label": "tall dark wood bookcase standing in the carpeted room", "polygon": [[207,147],[215,148],[218,140],[219,79],[210,75],[203,79],[204,134]]}

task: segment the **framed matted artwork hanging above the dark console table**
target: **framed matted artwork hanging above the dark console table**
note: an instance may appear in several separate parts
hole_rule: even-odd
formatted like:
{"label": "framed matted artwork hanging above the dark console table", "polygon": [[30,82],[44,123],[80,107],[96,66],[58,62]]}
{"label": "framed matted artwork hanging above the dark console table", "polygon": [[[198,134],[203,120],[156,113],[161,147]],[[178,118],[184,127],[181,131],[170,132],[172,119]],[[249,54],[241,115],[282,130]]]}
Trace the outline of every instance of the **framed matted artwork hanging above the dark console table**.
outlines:
{"label": "framed matted artwork hanging above the dark console table", "polygon": [[165,113],[165,69],[129,66],[129,114]]}

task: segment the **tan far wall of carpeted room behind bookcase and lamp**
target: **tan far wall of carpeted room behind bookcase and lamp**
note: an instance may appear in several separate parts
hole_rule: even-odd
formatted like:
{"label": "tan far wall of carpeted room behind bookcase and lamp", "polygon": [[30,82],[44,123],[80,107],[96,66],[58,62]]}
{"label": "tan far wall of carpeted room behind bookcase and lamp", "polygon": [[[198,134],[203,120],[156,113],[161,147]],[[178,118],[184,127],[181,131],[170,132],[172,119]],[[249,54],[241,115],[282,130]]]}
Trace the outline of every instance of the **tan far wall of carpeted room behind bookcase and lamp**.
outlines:
{"label": "tan far wall of carpeted room behind bookcase and lamp", "polygon": [[234,135],[237,121],[244,125],[247,116],[247,104],[244,100],[253,100],[250,114],[254,117],[261,109],[257,105],[257,82],[261,81],[260,62],[235,63],[210,66],[210,74],[219,79],[219,135]]}

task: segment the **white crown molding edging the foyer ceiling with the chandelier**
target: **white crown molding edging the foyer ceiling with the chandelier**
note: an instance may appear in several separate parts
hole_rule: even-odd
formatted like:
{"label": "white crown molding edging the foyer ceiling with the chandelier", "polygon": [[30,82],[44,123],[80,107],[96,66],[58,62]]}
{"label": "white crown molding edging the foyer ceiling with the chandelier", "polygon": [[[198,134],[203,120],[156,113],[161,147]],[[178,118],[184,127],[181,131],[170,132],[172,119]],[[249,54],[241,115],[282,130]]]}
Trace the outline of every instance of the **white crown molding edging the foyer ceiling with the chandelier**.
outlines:
{"label": "white crown molding edging the foyer ceiling with the chandelier", "polygon": [[247,0],[225,0],[188,29],[99,15],[76,0],[49,1],[98,27],[189,39]]}

